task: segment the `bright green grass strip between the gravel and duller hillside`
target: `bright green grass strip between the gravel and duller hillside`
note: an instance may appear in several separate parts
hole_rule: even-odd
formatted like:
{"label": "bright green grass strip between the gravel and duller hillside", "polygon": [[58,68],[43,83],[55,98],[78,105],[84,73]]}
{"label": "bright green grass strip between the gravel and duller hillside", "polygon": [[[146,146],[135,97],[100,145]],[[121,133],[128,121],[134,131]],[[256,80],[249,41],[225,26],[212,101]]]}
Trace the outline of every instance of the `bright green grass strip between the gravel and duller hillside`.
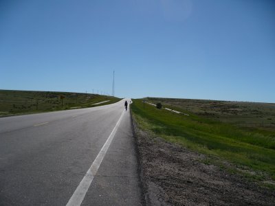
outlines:
{"label": "bright green grass strip between the gravel and duller hillside", "polygon": [[248,129],[197,115],[172,104],[169,107],[189,116],[159,110],[148,104],[144,109],[142,100],[134,100],[131,111],[140,127],[150,133],[206,154],[217,164],[228,161],[236,165],[236,168],[228,169],[249,174],[252,179],[275,181],[275,133],[272,128]]}

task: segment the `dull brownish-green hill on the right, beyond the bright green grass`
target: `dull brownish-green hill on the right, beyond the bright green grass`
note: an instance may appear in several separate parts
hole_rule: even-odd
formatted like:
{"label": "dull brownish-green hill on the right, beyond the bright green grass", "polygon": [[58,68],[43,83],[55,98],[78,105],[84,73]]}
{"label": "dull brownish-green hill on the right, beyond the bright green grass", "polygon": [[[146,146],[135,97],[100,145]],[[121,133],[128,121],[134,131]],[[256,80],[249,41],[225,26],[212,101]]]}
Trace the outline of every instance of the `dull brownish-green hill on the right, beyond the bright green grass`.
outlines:
{"label": "dull brownish-green hill on the right, beyond the bright green grass", "polygon": [[201,117],[246,128],[275,128],[275,104],[259,102],[232,102],[218,100],[191,100],[172,98],[145,98],[148,102],[161,102],[171,108],[181,108]]}

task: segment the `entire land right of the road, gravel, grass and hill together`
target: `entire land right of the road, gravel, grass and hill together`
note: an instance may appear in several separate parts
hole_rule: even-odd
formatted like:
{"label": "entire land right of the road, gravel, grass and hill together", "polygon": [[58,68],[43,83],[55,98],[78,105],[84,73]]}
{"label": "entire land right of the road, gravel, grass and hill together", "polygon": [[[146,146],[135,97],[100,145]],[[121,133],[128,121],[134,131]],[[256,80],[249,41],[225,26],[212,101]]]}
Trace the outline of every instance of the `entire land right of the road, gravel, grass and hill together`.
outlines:
{"label": "entire land right of the road, gravel, grass and hill together", "polygon": [[144,98],[131,112],[147,203],[274,205],[275,104]]}

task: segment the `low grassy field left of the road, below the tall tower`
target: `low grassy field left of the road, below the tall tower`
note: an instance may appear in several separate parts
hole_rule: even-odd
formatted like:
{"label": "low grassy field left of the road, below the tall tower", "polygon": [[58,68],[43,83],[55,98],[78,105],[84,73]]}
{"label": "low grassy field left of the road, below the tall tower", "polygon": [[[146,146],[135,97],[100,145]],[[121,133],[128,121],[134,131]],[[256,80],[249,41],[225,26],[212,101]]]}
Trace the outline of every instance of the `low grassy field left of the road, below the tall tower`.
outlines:
{"label": "low grassy field left of the road, below the tall tower", "polygon": [[[63,97],[63,102],[61,100]],[[111,104],[119,98],[89,93],[0,90],[0,117]],[[100,105],[103,105],[100,104]]]}

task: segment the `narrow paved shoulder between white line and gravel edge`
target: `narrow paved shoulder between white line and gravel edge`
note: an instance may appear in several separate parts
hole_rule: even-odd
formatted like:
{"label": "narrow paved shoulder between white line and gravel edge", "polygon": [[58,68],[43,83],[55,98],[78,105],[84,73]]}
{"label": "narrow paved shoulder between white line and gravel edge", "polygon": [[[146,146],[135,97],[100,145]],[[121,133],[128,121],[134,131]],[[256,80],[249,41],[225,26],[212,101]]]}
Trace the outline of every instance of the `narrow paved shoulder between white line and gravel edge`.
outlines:
{"label": "narrow paved shoulder between white line and gravel edge", "polygon": [[144,205],[130,112],[123,112],[82,205]]}

